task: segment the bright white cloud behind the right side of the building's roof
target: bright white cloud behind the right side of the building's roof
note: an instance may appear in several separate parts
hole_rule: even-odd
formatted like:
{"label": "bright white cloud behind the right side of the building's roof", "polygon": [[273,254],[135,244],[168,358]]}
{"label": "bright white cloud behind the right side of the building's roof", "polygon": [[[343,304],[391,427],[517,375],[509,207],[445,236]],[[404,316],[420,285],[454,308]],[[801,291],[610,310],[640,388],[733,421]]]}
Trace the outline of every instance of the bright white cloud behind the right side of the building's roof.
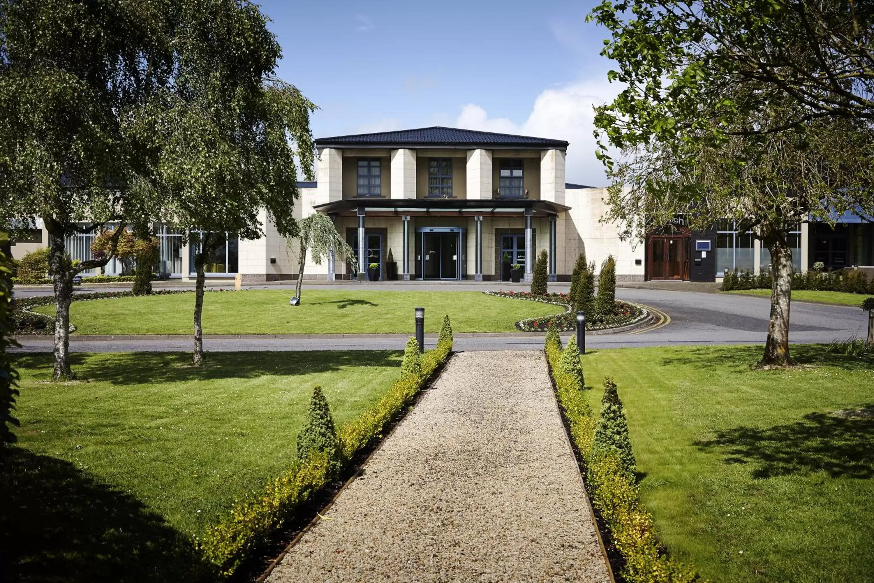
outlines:
{"label": "bright white cloud behind the right side of the building's roof", "polygon": [[570,142],[567,182],[606,186],[604,167],[594,154],[593,107],[611,101],[619,91],[618,85],[610,85],[607,80],[545,89],[534,100],[528,119],[521,124],[505,117],[489,117],[485,109],[469,103],[461,108],[455,127],[566,140]]}

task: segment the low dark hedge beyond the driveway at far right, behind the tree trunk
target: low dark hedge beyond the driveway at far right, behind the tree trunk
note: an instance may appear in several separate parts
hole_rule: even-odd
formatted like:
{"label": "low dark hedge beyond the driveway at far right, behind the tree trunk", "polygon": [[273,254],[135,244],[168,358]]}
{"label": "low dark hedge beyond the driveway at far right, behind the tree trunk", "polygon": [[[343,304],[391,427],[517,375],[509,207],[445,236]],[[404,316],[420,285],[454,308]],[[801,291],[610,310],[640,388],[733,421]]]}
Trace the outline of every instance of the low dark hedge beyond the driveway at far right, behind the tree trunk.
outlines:
{"label": "low dark hedge beyond the driveway at far right, behind the tree trunk", "polygon": [[[763,269],[758,275],[746,269],[729,271],[722,280],[722,291],[743,289],[771,289],[771,272]],[[792,275],[793,290],[839,291],[848,294],[874,294],[874,277],[871,280],[858,269],[838,269],[819,272],[813,269],[803,274]]]}

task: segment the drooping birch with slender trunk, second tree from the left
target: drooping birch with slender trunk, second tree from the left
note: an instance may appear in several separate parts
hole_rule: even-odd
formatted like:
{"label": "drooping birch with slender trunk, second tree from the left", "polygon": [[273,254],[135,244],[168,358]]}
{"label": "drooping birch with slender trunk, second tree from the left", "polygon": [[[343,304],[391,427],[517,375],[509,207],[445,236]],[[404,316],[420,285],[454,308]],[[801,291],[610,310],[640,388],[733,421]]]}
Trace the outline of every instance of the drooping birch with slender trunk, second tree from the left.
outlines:
{"label": "drooping birch with slender trunk, second tree from the left", "polygon": [[193,246],[197,273],[194,364],[203,361],[205,264],[228,238],[259,239],[267,221],[292,238],[295,159],[313,180],[309,115],[316,106],[275,76],[281,49],[253,3],[184,2],[177,72],[137,135],[157,152],[151,168],[161,218]]}

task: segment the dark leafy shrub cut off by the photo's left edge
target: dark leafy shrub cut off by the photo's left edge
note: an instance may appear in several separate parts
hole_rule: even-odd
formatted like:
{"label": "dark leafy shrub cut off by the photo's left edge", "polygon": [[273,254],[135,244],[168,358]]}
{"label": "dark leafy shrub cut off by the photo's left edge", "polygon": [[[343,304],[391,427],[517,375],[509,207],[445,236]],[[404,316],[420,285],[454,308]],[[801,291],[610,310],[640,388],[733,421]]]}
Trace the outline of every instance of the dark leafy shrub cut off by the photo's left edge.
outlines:
{"label": "dark leafy shrub cut off by the photo's left edge", "polygon": [[17,346],[12,339],[15,326],[12,323],[12,269],[10,258],[3,253],[2,248],[9,239],[6,233],[0,233],[0,447],[4,443],[16,441],[10,427],[18,427],[15,411],[15,398],[18,395],[18,373],[12,368],[12,358],[6,351],[10,346]]}

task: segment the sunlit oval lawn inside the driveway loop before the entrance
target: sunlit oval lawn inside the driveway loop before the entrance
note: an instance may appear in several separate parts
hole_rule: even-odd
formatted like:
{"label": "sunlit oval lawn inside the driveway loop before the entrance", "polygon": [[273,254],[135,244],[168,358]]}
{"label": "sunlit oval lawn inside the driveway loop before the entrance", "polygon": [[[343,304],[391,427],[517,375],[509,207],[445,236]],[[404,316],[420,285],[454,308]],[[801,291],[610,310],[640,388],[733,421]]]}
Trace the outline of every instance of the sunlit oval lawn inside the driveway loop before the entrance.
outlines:
{"label": "sunlit oval lawn inside the driveway loop before the entrance", "polygon": [[[448,314],[456,332],[510,332],[524,318],[562,311],[560,306],[481,292],[303,289],[301,306],[285,290],[209,292],[205,334],[342,334],[410,332],[413,309],[425,308],[425,330],[439,332]],[[53,314],[52,306],[38,309]],[[193,294],[73,302],[77,334],[191,334]]]}

